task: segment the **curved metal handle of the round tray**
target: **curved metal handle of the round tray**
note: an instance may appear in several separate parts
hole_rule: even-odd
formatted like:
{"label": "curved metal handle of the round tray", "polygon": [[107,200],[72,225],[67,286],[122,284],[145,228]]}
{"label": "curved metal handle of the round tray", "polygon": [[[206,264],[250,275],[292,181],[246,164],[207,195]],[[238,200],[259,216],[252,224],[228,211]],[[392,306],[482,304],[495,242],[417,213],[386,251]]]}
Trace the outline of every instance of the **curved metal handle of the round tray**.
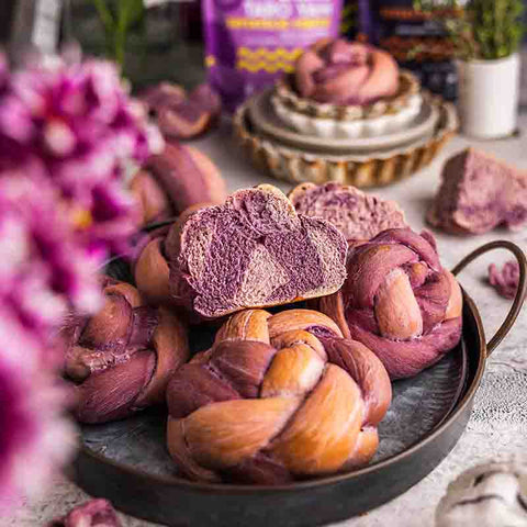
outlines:
{"label": "curved metal handle of the round tray", "polygon": [[460,271],[462,271],[470,262],[475,260],[479,256],[489,253],[494,249],[507,249],[516,257],[519,264],[519,284],[518,291],[516,292],[516,296],[514,298],[513,305],[511,311],[507,314],[504,323],[501,325],[500,329],[496,334],[491,338],[491,340],[486,345],[486,356],[489,357],[494,349],[500,345],[500,343],[505,338],[508,334],[511,328],[513,327],[516,318],[522,310],[522,305],[525,302],[525,298],[527,294],[527,259],[525,257],[524,251],[512,242],[507,242],[505,239],[500,239],[496,242],[491,242],[481,246],[479,249],[475,249],[470,255],[466,256],[453,269],[452,274],[457,276]]}

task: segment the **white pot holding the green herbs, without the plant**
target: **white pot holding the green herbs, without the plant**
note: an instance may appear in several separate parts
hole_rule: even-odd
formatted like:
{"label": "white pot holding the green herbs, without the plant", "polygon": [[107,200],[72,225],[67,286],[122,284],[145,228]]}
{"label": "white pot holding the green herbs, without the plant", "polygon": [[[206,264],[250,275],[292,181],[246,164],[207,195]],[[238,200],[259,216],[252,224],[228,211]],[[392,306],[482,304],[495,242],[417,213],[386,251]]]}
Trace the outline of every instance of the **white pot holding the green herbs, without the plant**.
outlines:
{"label": "white pot holding the green herbs, without the plant", "polygon": [[459,114],[464,134],[496,138],[516,130],[519,55],[497,60],[459,60]]}

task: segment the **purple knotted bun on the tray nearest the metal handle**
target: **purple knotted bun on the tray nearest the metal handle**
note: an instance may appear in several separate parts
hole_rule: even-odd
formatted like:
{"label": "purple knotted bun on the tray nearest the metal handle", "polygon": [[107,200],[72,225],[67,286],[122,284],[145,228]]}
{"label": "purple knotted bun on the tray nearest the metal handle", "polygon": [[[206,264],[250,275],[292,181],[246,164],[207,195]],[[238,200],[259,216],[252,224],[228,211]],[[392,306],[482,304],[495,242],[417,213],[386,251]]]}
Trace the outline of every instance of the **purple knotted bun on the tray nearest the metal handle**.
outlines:
{"label": "purple knotted bun on the tray nearest the metal handle", "polygon": [[461,289],[431,235],[392,228],[348,254],[348,278],[314,305],[362,343],[392,379],[436,363],[461,338]]}

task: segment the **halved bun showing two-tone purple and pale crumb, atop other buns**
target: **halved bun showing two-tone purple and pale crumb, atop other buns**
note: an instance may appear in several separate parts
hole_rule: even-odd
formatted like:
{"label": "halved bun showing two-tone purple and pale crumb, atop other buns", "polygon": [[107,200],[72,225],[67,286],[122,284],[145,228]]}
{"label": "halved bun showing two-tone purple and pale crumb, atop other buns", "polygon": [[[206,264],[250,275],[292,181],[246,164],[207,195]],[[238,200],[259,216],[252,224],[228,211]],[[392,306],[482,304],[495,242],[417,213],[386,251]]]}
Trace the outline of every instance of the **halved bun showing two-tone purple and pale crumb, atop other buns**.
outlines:
{"label": "halved bun showing two-tone purple and pale crumb, atop other buns", "polygon": [[344,235],[296,214],[270,184],[239,190],[172,229],[171,293],[205,318],[330,294],[346,278]]}

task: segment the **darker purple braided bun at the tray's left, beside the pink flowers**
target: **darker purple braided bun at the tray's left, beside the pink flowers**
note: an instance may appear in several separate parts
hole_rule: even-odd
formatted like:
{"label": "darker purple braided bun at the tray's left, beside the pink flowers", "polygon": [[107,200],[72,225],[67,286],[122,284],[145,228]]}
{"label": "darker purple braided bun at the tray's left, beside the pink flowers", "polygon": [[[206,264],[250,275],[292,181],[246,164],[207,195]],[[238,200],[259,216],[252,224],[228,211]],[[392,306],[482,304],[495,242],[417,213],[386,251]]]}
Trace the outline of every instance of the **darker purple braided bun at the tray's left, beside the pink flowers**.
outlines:
{"label": "darker purple braided bun at the tray's left, beside the pink flowers", "polygon": [[131,284],[108,280],[91,318],[71,317],[64,370],[82,423],[104,423],[165,401],[170,378],[189,358],[187,328],[165,307],[144,304]]}

